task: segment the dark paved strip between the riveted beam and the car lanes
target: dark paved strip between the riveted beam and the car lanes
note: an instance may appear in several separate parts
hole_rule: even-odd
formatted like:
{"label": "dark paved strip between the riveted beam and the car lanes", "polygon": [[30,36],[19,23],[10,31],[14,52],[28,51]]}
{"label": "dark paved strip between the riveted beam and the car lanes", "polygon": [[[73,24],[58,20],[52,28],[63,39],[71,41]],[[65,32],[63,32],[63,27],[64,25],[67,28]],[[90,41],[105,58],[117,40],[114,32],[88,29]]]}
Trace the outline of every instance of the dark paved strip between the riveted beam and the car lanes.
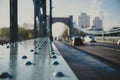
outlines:
{"label": "dark paved strip between the riveted beam and the car lanes", "polygon": [[55,45],[80,80],[120,80],[120,71],[115,67],[58,41]]}

